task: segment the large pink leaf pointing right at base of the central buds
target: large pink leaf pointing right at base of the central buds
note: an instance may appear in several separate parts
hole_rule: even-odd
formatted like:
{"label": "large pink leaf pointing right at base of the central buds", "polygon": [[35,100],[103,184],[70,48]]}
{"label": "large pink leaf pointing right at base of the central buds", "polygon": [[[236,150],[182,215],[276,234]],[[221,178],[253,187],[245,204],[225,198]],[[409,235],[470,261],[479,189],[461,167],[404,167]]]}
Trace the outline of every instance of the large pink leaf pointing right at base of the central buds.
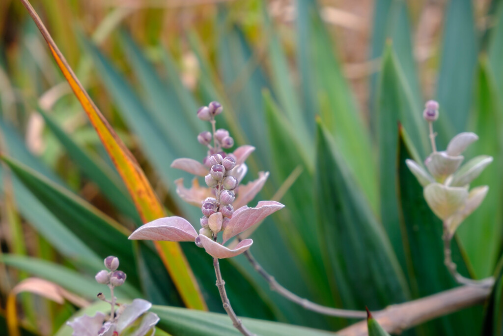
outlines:
{"label": "large pink leaf pointing right at base of the central buds", "polygon": [[285,206],[274,200],[261,200],[256,208],[241,207],[234,211],[229,224],[223,231],[223,242],[262,221]]}

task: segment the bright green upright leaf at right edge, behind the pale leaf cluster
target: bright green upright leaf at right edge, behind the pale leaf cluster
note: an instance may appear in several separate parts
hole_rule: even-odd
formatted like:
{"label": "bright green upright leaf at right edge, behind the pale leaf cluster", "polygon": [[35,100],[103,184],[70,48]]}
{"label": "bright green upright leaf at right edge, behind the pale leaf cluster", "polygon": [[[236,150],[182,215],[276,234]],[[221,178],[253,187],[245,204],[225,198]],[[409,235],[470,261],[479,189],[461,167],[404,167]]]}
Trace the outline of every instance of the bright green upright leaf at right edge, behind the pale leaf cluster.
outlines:
{"label": "bright green upright leaf at right edge, behind the pale leaf cluster", "polygon": [[481,60],[477,69],[475,105],[470,126],[480,139],[470,145],[468,150],[471,157],[483,154],[494,158],[480,176],[471,182],[472,187],[488,185],[489,192],[480,207],[458,229],[475,275],[479,278],[492,274],[501,249],[501,239],[498,237],[503,232],[503,209],[499,206],[503,197],[503,181],[500,178],[503,169],[503,109],[491,74],[487,62]]}

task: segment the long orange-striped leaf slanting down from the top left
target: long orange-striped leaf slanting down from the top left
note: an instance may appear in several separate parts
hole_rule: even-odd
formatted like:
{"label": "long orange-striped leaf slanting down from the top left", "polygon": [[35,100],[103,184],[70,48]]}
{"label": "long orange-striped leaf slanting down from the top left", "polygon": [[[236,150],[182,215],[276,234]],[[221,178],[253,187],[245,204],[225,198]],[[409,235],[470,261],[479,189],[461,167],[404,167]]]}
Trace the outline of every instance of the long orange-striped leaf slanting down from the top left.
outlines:
{"label": "long orange-striped leaf slanting down from the top left", "polygon": [[[165,217],[163,207],[136,159],[82,87],[33,7],[27,0],[20,1],[35,21],[63,76],[98,132],[117,171],[124,180],[142,220],[149,222]],[[206,303],[180,245],[175,242],[155,242],[155,246],[186,306],[206,310]]]}

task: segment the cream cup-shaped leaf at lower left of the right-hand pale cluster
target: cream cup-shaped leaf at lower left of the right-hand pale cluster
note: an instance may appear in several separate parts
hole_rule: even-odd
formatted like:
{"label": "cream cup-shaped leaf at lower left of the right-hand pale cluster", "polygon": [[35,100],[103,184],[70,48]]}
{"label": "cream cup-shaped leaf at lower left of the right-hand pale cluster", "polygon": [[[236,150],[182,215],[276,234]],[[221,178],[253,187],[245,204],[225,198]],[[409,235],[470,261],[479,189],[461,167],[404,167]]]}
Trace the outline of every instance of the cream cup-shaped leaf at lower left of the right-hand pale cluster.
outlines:
{"label": "cream cup-shaped leaf at lower left of the right-hand pale cluster", "polygon": [[424,194],[430,209],[443,221],[463,207],[468,198],[466,188],[449,187],[441,183],[428,185]]}

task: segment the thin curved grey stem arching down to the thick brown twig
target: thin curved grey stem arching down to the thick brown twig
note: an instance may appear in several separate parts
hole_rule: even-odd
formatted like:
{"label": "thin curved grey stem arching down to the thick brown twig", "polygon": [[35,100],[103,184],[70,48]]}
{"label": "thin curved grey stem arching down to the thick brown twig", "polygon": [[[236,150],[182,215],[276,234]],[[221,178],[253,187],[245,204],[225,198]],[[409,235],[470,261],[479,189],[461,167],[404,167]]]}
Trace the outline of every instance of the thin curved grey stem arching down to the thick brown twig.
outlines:
{"label": "thin curved grey stem arching down to the thick brown twig", "polygon": [[255,270],[269,283],[271,290],[279,293],[288,300],[300,305],[302,308],[307,310],[312,310],[320,314],[329,316],[338,316],[346,318],[366,318],[367,313],[363,310],[346,310],[322,306],[320,304],[311,302],[307,299],[301,298],[300,296],[290,292],[285,287],[281,286],[272,275],[266,272],[264,268],[259,264],[259,262],[251,255],[249,251],[243,252],[244,256],[250,264],[255,268]]}

